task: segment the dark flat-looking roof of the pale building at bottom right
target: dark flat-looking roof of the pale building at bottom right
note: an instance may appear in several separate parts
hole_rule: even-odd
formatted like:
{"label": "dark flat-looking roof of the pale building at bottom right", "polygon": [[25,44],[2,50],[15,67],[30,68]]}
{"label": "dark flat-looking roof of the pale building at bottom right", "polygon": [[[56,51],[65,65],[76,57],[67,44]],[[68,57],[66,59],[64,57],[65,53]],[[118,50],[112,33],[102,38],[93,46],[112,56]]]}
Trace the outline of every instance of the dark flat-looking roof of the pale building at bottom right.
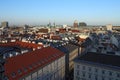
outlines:
{"label": "dark flat-looking roof of the pale building at bottom right", "polygon": [[120,56],[118,55],[88,52],[87,54],[84,54],[75,59],[75,61],[87,61],[92,63],[120,67]]}

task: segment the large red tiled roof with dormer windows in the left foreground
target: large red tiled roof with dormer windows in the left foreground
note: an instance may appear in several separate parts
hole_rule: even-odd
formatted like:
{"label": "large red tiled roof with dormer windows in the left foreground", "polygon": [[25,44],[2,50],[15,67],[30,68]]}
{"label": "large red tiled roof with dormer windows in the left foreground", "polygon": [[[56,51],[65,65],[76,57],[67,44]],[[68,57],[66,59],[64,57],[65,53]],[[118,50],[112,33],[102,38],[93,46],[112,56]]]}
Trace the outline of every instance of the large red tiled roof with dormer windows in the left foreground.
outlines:
{"label": "large red tiled roof with dormer windows in the left foreground", "polygon": [[[64,53],[52,47],[46,47],[11,58],[5,63],[5,74],[9,80],[18,80],[30,72],[64,56]],[[30,66],[32,68],[30,68]],[[26,70],[25,70],[26,69]],[[15,75],[12,76],[12,73]]]}

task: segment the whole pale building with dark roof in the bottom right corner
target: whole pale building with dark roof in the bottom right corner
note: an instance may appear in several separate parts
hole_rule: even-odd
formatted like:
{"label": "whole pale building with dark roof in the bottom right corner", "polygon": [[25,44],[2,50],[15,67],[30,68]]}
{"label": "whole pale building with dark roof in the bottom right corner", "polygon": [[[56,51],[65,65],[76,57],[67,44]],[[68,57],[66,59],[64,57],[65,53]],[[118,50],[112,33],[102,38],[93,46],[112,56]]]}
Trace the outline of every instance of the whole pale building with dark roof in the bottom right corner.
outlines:
{"label": "whole pale building with dark roof in the bottom right corner", "polygon": [[120,56],[87,53],[74,62],[74,80],[120,80]]}

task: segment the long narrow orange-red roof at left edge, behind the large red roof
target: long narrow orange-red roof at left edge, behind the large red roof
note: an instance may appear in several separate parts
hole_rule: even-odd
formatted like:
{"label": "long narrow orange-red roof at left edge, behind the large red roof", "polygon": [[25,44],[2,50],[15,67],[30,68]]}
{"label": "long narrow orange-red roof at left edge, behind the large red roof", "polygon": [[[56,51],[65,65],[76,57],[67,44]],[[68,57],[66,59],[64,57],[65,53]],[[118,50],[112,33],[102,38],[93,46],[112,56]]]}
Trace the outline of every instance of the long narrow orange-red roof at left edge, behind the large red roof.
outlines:
{"label": "long narrow orange-red roof at left edge, behind the large red roof", "polygon": [[22,48],[35,48],[35,49],[37,49],[38,47],[43,47],[43,45],[40,45],[40,44],[33,44],[33,43],[27,43],[27,42],[21,42],[21,41],[1,43],[0,46],[2,47],[19,46]]}

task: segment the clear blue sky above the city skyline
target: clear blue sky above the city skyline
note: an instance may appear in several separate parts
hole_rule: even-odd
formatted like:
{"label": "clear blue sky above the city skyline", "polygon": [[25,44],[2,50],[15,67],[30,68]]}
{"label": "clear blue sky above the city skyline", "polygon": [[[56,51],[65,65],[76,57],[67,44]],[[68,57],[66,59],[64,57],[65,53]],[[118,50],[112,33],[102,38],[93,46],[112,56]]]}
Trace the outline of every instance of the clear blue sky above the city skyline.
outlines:
{"label": "clear blue sky above the city skyline", "polygon": [[11,25],[120,25],[120,0],[0,0],[0,22]]}

